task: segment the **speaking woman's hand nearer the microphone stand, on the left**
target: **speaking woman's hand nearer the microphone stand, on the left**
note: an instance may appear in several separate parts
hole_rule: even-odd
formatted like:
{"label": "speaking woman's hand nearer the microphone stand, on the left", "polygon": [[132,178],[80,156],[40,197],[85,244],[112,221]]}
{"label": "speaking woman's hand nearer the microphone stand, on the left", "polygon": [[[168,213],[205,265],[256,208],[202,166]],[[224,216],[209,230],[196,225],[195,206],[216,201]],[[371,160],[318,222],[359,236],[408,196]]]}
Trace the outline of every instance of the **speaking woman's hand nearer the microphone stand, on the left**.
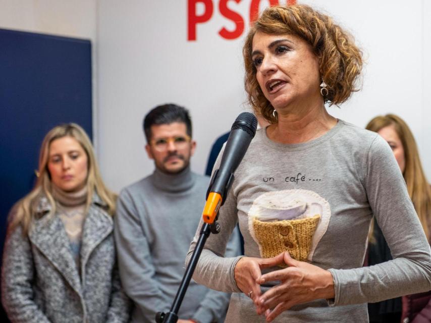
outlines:
{"label": "speaking woman's hand nearer the microphone stand, on the left", "polygon": [[274,258],[242,257],[234,269],[234,278],[238,288],[253,301],[261,295],[257,279],[261,277],[261,269],[274,266]]}

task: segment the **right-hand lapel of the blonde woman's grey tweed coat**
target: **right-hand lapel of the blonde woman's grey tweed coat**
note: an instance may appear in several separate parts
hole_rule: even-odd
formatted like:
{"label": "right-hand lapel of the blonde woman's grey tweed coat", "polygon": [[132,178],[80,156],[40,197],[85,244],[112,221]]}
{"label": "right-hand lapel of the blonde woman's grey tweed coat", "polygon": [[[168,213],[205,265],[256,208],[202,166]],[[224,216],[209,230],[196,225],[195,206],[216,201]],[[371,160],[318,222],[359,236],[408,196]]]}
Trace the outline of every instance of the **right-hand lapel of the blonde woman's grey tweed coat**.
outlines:
{"label": "right-hand lapel of the blonde woman's grey tweed coat", "polygon": [[85,219],[84,229],[82,232],[81,245],[81,273],[85,275],[85,266],[94,248],[105,239],[114,229],[114,222],[106,212],[104,212],[97,204],[98,196],[93,197],[93,203],[88,210],[87,218]]}

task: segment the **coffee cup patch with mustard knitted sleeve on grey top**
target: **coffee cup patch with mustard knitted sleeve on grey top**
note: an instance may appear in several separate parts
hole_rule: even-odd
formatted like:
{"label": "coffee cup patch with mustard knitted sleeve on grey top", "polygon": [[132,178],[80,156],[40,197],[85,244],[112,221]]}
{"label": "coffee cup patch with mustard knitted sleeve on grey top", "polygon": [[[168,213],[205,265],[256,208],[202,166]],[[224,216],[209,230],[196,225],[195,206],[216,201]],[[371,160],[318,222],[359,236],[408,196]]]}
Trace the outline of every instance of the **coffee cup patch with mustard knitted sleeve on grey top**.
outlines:
{"label": "coffee cup patch with mustard knitted sleeve on grey top", "polygon": [[248,226],[262,258],[288,251],[294,259],[311,261],[330,217],[328,201],[317,193],[283,190],[255,199],[248,212]]}

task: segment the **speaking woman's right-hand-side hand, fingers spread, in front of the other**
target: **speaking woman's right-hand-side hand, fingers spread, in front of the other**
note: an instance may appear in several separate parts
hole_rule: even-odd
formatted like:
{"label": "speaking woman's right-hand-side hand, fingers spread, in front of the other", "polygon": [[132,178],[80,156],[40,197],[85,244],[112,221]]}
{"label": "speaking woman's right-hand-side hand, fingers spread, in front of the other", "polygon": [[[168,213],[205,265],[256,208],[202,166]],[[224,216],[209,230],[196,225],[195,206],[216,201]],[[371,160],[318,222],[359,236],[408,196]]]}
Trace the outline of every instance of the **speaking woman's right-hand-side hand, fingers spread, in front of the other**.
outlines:
{"label": "speaking woman's right-hand-side hand, fingers spread, in front of the other", "polygon": [[270,261],[267,266],[281,263],[288,265],[287,268],[262,275],[256,279],[258,284],[281,282],[254,299],[257,313],[265,313],[266,321],[271,322],[293,305],[314,299],[335,297],[334,280],[330,272],[308,262],[294,260],[288,252],[283,252],[266,260]]}

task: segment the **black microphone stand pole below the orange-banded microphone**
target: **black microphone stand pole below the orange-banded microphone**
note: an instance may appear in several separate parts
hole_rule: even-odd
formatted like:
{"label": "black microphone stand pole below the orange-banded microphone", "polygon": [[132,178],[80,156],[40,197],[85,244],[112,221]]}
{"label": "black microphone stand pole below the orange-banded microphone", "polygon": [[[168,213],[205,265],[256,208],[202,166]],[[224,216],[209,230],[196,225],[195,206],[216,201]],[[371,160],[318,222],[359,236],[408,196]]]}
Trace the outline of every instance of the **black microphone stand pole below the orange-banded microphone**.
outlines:
{"label": "black microphone stand pole below the orange-banded microphone", "polygon": [[212,224],[204,223],[199,234],[196,247],[190,258],[190,262],[186,268],[180,287],[175,296],[174,302],[172,303],[171,310],[169,312],[157,312],[155,315],[155,321],[157,323],[176,323],[178,321],[178,311],[180,310],[181,303],[183,302],[184,295],[186,294],[187,288],[189,287],[190,280],[192,279],[196,264],[199,260],[203,246],[205,245],[206,239],[210,233],[217,234],[220,232],[220,224],[213,222]]}

